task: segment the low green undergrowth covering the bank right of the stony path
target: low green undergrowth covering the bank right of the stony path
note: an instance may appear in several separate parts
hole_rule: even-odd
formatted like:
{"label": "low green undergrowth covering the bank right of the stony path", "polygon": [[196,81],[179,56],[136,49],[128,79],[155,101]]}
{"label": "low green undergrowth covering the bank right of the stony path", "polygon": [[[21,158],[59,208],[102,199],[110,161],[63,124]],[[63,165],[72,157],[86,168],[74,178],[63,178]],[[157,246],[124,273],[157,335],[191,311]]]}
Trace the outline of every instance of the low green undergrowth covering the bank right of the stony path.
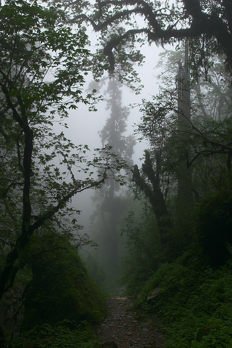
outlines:
{"label": "low green undergrowth covering the bank right of the stony path", "polygon": [[207,266],[192,248],[150,277],[137,307],[162,318],[164,348],[232,348],[231,269],[231,261],[220,269]]}

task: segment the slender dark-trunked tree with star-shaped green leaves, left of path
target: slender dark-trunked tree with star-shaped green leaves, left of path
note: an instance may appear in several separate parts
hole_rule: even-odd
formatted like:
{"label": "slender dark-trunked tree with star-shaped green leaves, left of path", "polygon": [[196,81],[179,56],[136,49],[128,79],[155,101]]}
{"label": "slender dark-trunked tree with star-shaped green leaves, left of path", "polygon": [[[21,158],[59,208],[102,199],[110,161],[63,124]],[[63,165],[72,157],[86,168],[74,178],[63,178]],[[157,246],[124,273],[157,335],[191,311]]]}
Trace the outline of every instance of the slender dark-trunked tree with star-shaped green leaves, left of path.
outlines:
{"label": "slender dark-trunked tree with star-shaped green leaves, left of path", "polygon": [[[5,1],[0,19],[2,297],[29,261],[35,231],[63,214],[73,195],[100,187],[107,170],[124,166],[107,147],[89,161],[86,145],[76,146],[53,129],[78,102],[90,103],[90,96],[82,96],[87,36],[64,25],[62,11],[33,1]],[[100,169],[95,177],[90,166]],[[79,172],[87,177],[78,178]]]}

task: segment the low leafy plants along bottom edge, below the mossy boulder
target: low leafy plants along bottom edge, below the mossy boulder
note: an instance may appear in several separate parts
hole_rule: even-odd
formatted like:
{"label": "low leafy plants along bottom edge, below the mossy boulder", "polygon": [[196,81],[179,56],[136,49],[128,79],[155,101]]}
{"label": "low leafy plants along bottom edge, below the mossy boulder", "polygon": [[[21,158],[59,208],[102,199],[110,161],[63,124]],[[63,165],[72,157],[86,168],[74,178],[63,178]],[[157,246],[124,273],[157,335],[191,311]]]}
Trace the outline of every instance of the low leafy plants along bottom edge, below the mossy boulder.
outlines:
{"label": "low leafy plants along bottom edge, below the mossy boulder", "polygon": [[37,325],[13,340],[12,348],[95,348],[97,340],[86,322],[65,320],[57,325]]}

